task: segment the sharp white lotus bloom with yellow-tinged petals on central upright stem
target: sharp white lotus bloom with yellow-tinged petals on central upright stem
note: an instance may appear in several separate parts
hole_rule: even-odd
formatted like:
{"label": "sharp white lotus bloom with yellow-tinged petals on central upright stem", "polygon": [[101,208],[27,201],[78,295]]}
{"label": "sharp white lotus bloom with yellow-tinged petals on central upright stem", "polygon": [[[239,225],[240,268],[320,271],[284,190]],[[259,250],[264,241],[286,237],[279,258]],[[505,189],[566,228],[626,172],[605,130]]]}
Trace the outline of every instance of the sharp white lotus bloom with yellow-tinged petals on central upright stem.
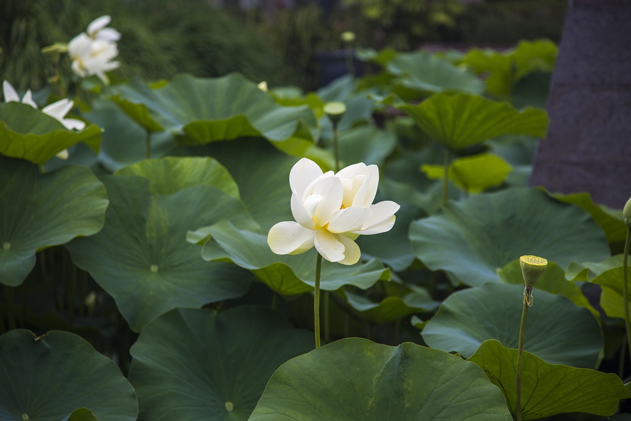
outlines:
{"label": "sharp white lotus bloom with yellow-tinged petals on central upright stem", "polygon": [[399,210],[389,200],[372,204],[378,184],[376,165],[354,164],[334,174],[300,159],[289,174],[295,221],[269,230],[269,248],[276,254],[299,254],[315,245],[329,262],[357,263],[362,253],[355,238],[389,231]]}

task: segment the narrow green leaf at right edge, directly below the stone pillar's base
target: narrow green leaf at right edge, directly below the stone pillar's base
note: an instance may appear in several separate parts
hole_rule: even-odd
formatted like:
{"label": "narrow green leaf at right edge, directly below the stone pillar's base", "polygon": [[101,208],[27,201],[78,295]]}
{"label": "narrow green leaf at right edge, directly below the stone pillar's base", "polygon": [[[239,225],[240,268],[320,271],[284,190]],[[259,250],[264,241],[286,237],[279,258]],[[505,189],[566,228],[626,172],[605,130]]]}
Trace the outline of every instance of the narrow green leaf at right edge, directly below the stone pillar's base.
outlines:
{"label": "narrow green leaf at right edge, directly below the stone pillar's base", "polygon": [[569,195],[548,193],[548,195],[559,202],[577,205],[588,212],[600,228],[603,229],[609,243],[623,243],[625,238],[627,238],[627,226],[622,217],[622,210],[598,205],[593,202],[589,193],[585,192],[571,193]]}

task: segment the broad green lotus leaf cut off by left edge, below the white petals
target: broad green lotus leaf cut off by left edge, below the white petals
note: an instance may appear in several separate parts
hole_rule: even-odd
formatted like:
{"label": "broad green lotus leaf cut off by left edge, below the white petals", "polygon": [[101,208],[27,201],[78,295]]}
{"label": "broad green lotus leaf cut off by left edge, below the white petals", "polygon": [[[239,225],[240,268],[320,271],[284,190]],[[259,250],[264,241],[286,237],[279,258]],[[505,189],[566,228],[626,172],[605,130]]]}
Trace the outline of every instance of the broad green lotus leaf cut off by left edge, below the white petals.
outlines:
{"label": "broad green lotus leaf cut off by left edge, below the white petals", "polygon": [[41,174],[35,164],[0,156],[0,283],[20,285],[38,250],[98,233],[107,204],[87,168]]}

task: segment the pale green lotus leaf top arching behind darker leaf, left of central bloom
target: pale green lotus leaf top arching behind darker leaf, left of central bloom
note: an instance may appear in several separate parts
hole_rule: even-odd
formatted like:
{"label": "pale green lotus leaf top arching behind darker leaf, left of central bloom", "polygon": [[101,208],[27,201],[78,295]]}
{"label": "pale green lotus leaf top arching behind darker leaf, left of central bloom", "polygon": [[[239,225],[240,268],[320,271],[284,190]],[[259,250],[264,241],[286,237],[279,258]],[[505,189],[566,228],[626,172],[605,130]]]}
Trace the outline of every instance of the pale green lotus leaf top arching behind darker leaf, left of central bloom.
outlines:
{"label": "pale green lotus leaf top arching behind darker leaf, left of central bloom", "polygon": [[213,186],[239,199],[239,187],[228,170],[212,158],[165,157],[138,162],[119,169],[116,175],[150,180],[151,195],[171,195],[194,186]]}

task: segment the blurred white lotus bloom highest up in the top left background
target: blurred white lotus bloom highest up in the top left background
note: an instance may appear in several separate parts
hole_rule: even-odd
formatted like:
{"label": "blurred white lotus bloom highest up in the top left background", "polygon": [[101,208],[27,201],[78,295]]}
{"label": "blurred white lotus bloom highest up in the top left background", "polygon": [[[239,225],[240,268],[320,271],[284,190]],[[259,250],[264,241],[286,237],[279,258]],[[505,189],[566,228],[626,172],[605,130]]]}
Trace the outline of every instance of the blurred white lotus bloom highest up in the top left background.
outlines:
{"label": "blurred white lotus bloom highest up in the top left background", "polygon": [[116,41],[121,39],[117,30],[105,27],[108,23],[110,16],[101,16],[88,25],[87,33],[81,32],[68,43],[74,73],[82,78],[97,75],[106,85],[109,79],[105,72],[120,66],[112,60],[119,54]]}

